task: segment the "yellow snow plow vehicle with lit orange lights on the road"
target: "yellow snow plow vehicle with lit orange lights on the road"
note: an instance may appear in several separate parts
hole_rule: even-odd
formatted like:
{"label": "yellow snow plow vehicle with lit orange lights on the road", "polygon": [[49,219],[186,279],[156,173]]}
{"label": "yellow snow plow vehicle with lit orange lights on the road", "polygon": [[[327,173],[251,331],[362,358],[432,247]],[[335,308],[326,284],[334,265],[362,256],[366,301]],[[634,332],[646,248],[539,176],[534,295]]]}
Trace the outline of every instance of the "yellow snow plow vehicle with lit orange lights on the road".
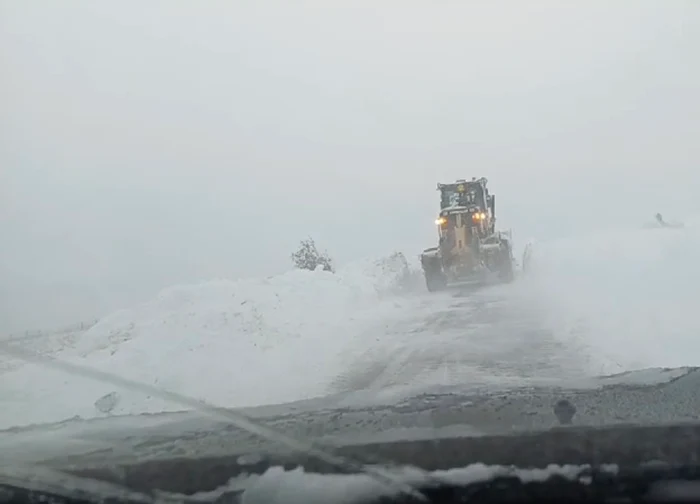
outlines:
{"label": "yellow snow plow vehicle with lit orange lights on the road", "polygon": [[437,185],[438,246],[421,254],[429,291],[493,276],[501,282],[513,280],[511,234],[496,231],[496,196],[489,194],[487,184],[482,177]]}

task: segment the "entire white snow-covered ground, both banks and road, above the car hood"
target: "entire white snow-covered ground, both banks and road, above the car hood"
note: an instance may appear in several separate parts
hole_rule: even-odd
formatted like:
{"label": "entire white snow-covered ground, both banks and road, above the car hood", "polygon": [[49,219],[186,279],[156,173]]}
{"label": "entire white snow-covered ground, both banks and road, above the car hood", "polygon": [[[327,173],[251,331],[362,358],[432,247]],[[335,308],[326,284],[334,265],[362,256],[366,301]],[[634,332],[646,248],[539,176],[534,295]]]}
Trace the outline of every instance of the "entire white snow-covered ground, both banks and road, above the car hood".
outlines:
{"label": "entire white snow-covered ground, both banks and road, above the car hood", "polygon": [[[394,255],[335,275],[177,286],[82,334],[18,344],[228,407],[693,366],[700,235],[685,224],[537,243],[535,269],[512,285],[431,295]],[[0,373],[0,428],[182,409],[7,358]]]}

